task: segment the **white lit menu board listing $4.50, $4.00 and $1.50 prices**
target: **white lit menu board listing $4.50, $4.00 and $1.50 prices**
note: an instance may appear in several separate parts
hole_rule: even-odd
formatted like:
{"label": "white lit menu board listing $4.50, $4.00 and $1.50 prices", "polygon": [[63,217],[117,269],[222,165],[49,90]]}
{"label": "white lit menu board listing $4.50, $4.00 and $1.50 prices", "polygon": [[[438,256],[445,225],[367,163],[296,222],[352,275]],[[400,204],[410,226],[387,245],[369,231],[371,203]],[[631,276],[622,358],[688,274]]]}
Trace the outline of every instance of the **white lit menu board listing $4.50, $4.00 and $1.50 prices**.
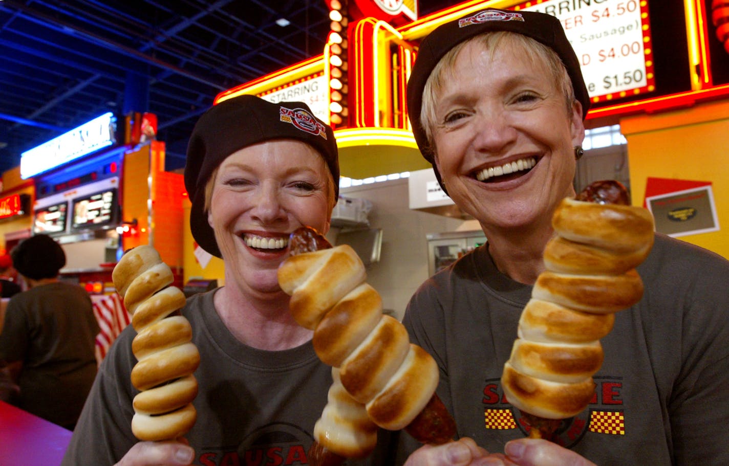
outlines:
{"label": "white lit menu board listing $4.50, $4.00 and $1.50 prices", "polygon": [[515,9],[561,21],[593,103],[655,90],[647,1],[546,0]]}

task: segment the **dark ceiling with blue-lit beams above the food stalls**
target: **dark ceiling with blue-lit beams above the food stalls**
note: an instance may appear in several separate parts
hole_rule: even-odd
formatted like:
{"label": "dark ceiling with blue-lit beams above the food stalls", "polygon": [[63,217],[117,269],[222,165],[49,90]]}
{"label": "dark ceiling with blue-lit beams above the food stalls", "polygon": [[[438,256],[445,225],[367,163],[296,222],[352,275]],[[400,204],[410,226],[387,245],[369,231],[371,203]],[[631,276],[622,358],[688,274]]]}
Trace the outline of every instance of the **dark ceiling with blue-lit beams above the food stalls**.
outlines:
{"label": "dark ceiling with blue-lit beams above the food stalls", "polygon": [[[421,1],[420,14],[457,3]],[[157,114],[167,169],[182,167],[215,95],[321,54],[328,12],[324,0],[0,0],[0,173],[129,110]]]}

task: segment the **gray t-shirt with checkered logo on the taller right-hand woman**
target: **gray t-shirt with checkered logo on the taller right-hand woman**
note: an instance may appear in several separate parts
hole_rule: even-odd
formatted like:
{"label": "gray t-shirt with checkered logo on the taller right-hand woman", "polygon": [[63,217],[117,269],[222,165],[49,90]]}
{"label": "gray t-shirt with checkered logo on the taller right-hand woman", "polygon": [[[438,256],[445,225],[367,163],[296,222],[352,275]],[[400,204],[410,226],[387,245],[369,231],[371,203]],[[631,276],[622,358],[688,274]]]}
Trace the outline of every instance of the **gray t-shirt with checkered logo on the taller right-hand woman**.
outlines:
{"label": "gray t-shirt with checkered logo on the taller right-hand woman", "polygon": [[[601,340],[595,397],[558,441],[600,466],[729,465],[729,262],[658,234],[638,271],[644,296]],[[500,378],[530,296],[483,246],[424,283],[405,315],[459,436],[488,451],[526,435]]]}

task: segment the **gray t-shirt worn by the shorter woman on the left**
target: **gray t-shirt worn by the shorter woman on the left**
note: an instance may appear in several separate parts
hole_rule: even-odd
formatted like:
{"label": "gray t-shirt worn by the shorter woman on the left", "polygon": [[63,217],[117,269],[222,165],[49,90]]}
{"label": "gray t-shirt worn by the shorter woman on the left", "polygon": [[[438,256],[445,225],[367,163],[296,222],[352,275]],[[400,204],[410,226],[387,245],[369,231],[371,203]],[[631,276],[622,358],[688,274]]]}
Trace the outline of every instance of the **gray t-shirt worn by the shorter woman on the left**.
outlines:
{"label": "gray t-shirt worn by the shorter woman on the left", "polygon": [[[198,420],[185,435],[195,449],[193,464],[306,464],[331,368],[311,341],[275,352],[241,344],[215,312],[214,292],[190,297],[182,310],[201,357]],[[130,427],[137,390],[129,378],[135,335],[126,328],[104,359],[63,465],[112,465],[137,442]]]}

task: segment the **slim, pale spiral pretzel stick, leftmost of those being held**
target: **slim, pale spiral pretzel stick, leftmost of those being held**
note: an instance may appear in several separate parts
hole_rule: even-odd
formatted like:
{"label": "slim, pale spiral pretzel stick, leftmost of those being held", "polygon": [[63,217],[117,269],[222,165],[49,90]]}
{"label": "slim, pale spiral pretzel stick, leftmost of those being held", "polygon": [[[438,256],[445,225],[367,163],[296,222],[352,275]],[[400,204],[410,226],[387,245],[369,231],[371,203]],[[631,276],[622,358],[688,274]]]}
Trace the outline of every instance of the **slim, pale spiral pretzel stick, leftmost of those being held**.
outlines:
{"label": "slim, pale spiral pretzel stick, leftmost of those being held", "polygon": [[197,417],[192,400],[198,382],[192,373],[200,364],[190,322],[177,312],[184,307],[184,293],[169,286],[172,270],[149,245],[125,253],[112,280],[137,331],[131,382],[141,391],[133,400],[132,432],[141,441],[182,437]]}

